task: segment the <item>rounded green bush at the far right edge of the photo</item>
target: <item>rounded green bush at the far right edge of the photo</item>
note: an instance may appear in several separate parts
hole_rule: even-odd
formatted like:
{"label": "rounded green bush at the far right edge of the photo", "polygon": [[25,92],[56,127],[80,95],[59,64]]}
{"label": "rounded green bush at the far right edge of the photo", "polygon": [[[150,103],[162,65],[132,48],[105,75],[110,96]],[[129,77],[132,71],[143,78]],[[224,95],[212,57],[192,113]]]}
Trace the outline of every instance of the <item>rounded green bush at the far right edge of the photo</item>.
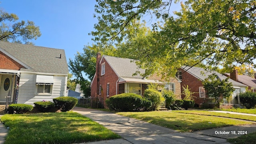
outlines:
{"label": "rounded green bush at the far right edge of the photo", "polygon": [[254,108],[256,105],[256,93],[255,92],[240,93],[240,102],[246,108]]}

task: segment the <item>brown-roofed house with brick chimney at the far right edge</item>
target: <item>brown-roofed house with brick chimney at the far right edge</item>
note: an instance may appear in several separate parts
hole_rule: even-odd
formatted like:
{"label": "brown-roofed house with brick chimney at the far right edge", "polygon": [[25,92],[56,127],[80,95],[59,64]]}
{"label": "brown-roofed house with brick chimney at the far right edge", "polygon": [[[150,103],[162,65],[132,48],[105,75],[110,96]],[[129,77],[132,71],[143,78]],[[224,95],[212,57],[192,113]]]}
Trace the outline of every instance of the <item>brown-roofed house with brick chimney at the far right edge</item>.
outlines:
{"label": "brown-roofed house with brick chimney at the far right edge", "polygon": [[254,78],[246,75],[238,75],[237,70],[234,70],[231,73],[224,74],[225,76],[230,77],[232,80],[240,82],[248,86],[248,90],[252,92],[256,92],[256,74],[254,74]]}

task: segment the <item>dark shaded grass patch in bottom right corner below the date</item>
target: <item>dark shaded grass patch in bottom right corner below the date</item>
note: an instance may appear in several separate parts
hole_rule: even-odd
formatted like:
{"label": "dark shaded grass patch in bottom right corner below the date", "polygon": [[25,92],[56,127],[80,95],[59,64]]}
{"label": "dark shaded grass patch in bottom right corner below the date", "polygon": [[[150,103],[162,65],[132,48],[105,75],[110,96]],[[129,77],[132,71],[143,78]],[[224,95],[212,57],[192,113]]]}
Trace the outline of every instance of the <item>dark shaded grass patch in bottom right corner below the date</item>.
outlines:
{"label": "dark shaded grass patch in bottom right corner below the date", "polygon": [[250,134],[245,134],[238,138],[230,138],[230,139],[227,139],[227,141],[232,144],[255,144],[256,132],[252,132]]}

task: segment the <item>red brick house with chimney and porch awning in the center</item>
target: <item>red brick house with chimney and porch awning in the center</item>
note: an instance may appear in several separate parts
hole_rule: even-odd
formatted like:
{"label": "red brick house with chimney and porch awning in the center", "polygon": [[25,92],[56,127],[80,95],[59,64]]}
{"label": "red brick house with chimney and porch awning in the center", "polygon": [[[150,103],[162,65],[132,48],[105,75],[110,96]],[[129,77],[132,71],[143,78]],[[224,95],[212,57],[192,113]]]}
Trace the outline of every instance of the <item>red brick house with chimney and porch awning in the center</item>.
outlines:
{"label": "red brick house with chimney and porch awning in the center", "polygon": [[[144,95],[144,90],[149,83],[165,85],[168,90],[174,91],[177,98],[180,97],[180,80],[171,78],[170,82],[160,82],[160,77],[150,76],[143,78],[134,75],[136,71],[141,74],[144,69],[139,69],[134,60],[128,58],[117,58],[113,56],[96,57],[96,73],[91,83],[91,97],[106,98],[122,93],[134,93]],[[105,104],[104,104],[105,105]],[[106,106],[106,105],[105,105]]]}

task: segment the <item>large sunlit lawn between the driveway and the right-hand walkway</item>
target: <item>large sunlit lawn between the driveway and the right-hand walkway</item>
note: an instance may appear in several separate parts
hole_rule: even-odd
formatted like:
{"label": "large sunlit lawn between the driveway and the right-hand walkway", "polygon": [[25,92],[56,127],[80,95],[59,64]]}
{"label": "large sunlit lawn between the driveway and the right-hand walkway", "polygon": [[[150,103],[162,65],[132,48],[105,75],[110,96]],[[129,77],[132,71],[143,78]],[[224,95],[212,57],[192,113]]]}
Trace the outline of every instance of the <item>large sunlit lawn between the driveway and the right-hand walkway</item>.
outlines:
{"label": "large sunlit lawn between the driveway and the right-hand walkway", "polygon": [[253,124],[252,122],[243,120],[234,120],[230,118],[202,116],[195,114],[183,114],[171,111],[118,112],[116,114],[128,116],[130,118],[135,118],[138,120],[143,120],[159,126],[178,130],[180,132],[192,132],[211,128],[220,128],[225,126]]}

